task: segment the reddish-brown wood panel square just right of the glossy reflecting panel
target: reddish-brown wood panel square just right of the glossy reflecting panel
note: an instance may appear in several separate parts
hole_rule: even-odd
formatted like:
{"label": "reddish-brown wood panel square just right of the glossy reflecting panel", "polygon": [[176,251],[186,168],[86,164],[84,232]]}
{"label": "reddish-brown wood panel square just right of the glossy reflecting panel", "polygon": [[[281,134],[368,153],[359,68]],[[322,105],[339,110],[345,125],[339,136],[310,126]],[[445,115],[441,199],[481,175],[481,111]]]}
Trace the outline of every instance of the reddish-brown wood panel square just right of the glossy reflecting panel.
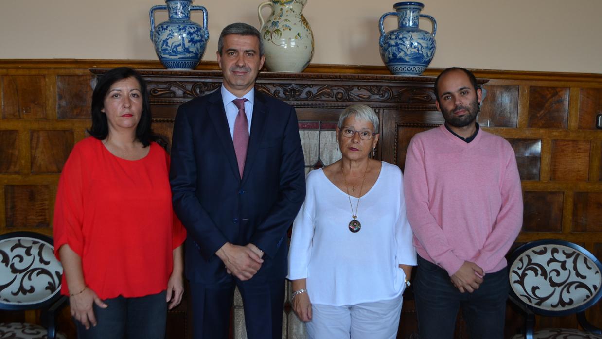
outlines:
{"label": "reddish-brown wood panel square just right of the glossy reflecting panel", "polygon": [[589,148],[588,140],[553,140],[550,180],[587,181]]}

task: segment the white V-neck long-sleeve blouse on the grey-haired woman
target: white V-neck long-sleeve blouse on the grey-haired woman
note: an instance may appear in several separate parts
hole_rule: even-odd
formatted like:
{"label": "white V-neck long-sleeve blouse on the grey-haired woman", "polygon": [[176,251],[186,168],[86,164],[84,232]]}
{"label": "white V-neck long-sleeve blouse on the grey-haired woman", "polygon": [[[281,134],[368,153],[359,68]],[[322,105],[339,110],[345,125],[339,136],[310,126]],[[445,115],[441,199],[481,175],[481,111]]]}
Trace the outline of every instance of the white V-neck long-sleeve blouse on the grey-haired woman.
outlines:
{"label": "white V-neck long-sleeve blouse on the grey-haired woman", "polygon": [[[352,207],[322,169],[306,180],[306,198],[293,224],[288,279],[306,278],[309,300],[354,305],[396,298],[405,289],[399,264],[416,264],[406,218],[402,173],[382,162],[374,186],[359,201],[361,230],[352,233]],[[358,198],[351,197],[355,211]]]}

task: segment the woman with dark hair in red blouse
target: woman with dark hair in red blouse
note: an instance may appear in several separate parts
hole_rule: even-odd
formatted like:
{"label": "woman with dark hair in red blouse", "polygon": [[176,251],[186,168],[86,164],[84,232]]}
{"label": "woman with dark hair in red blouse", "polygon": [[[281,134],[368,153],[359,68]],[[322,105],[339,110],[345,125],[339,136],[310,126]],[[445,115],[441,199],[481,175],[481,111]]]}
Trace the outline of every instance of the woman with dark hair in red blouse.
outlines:
{"label": "woman with dark hair in red blouse", "polygon": [[120,67],[99,78],[88,133],[65,163],[54,213],[78,338],[164,338],[167,308],[184,292],[186,233],[138,73]]}

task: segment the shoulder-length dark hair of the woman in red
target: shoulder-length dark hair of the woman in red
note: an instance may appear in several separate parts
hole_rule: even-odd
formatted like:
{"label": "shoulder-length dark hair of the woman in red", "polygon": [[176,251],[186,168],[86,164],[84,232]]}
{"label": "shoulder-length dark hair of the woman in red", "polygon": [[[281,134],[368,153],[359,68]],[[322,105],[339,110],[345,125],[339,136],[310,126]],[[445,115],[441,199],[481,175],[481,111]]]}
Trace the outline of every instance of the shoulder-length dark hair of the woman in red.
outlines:
{"label": "shoulder-length dark hair of the woman in red", "polygon": [[136,79],[140,85],[140,92],[142,93],[142,112],[140,114],[138,126],[136,126],[136,139],[140,141],[144,147],[151,144],[151,141],[155,141],[157,144],[167,148],[165,139],[155,135],[151,129],[151,104],[149,103],[146,81],[144,81],[138,72],[129,67],[117,67],[116,69],[112,69],[107,73],[104,73],[104,75],[99,76],[94,92],[92,93],[92,127],[88,129],[88,133],[99,140],[107,138],[109,133],[107,114],[102,112],[105,105],[105,97],[107,97],[107,93],[114,83],[127,78]]}

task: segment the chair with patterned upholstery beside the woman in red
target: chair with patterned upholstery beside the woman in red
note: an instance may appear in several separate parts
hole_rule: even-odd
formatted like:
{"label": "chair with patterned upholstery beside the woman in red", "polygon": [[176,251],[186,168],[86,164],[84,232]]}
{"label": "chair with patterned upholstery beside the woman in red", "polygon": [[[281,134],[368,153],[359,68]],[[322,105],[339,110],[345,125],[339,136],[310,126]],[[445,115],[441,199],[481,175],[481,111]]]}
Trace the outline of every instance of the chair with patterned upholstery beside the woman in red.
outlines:
{"label": "chair with patterned upholstery beside the woman in red", "polygon": [[53,251],[52,239],[43,234],[0,235],[0,310],[42,310],[46,325],[0,323],[0,338],[65,338],[55,326],[55,313],[67,299],[60,295],[63,266]]}

